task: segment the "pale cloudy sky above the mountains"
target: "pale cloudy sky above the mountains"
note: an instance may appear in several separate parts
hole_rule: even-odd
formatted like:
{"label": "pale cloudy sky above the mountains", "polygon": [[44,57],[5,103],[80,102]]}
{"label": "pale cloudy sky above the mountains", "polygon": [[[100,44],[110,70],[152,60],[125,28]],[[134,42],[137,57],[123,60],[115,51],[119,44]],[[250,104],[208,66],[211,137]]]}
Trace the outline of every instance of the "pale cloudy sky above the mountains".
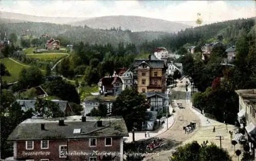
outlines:
{"label": "pale cloudy sky above the mountains", "polygon": [[[46,17],[133,15],[169,21],[224,21],[256,16],[256,1],[15,1],[1,0],[0,11]],[[200,13],[200,16],[198,16]],[[1,16],[1,15],[0,15]]]}

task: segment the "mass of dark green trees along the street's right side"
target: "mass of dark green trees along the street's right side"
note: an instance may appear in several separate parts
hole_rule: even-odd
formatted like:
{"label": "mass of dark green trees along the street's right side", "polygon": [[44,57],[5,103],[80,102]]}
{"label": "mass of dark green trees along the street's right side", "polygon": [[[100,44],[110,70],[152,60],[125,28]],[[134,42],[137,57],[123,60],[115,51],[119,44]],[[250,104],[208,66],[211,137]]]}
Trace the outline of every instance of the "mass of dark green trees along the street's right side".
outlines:
{"label": "mass of dark green trees along the street's right side", "polygon": [[[251,26],[250,26],[251,25]],[[247,27],[250,26],[248,29]],[[225,47],[214,47],[211,57],[203,61],[200,52],[187,54],[178,60],[183,64],[183,72],[191,77],[199,90],[192,95],[194,106],[206,116],[220,122],[234,124],[239,112],[238,94],[240,89],[256,88],[256,35],[255,25],[247,21],[236,35],[236,60],[233,66],[222,65],[226,58]]]}

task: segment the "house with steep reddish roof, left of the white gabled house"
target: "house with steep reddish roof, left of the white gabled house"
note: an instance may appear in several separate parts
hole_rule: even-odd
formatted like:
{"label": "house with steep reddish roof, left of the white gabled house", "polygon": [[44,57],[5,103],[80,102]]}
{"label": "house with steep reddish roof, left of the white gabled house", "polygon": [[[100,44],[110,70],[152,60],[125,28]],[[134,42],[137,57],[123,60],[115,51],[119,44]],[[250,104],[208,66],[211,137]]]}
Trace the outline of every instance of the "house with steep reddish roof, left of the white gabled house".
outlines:
{"label": "house with steep reddish roof, left of the white gabled house", "polygon": [[98,83],[100,95],[117,96],[122,92],[122,79],[120,76],[105,76]]}

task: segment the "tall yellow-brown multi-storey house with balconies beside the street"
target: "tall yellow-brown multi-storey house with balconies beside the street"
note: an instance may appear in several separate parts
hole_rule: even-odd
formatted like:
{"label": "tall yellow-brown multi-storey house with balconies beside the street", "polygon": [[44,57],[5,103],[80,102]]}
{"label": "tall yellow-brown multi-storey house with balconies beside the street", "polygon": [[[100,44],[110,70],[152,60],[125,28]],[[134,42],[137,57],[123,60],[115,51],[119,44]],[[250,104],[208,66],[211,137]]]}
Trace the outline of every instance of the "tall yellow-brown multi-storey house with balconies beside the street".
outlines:
{"label": "tall yellow-brown multi-storey house with balconies beside the street", "polygon": [[137,59],[133,64],[134,87],[139,93],[149,91],[165,92],[166,90],[166,64],[150,55],[148,60]]}

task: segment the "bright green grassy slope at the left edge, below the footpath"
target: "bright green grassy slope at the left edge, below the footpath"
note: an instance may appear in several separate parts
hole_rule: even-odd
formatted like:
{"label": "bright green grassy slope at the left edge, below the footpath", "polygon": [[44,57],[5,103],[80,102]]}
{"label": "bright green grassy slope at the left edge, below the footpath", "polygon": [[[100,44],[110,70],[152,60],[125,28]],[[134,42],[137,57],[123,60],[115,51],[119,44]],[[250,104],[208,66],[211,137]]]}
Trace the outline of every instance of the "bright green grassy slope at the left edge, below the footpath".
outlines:
{"label": "bright green grassy slope at the left edge, below the footpath", "polygon": [[18,76],[19,76],[19,72],[23,68],[28,68],[28,66],[26,66],[26,65],[23,66],[23,65],[17,64],[8,58],[3,58],[0,60],[1,60],[1,63],[3,63],[5,65],[5,67],[11,74],[11,76],[3,76],[3,81],[7,81],[7,83],[16,82],[18,79]]}

